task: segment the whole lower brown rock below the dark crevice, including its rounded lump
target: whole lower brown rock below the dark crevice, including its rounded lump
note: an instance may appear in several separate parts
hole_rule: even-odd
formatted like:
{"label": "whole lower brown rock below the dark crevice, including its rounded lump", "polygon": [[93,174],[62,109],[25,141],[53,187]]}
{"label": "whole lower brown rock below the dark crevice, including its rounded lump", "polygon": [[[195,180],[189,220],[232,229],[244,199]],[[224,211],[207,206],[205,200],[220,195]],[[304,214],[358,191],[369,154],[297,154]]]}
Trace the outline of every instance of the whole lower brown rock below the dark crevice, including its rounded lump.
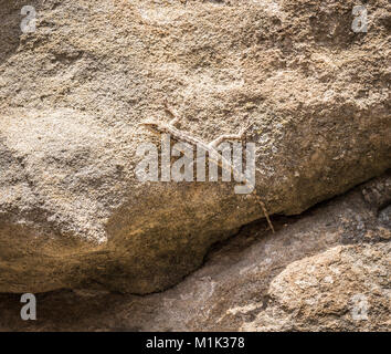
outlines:
{"label": "whole lower brown rock below the dark crevice, including its rounded lump", "polygon": [[12,331],[391,331],[391,175],[305,212],[244,227],[177,287],[145,296],[85,289],[0,295]]}

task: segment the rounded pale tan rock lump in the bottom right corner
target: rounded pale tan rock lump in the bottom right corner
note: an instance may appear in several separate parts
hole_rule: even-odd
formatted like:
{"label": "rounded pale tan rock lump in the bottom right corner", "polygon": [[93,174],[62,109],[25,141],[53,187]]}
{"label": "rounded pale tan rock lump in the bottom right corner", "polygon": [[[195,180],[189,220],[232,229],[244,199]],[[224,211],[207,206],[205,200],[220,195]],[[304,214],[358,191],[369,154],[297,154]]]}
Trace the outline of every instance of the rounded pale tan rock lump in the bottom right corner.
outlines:
{"label": "rounded pale tan rock lump in the bottom right corner", "polygon": [[289,264],[267,310],[241,330],[389,331],[390,251],[390,242],[338,246]]}

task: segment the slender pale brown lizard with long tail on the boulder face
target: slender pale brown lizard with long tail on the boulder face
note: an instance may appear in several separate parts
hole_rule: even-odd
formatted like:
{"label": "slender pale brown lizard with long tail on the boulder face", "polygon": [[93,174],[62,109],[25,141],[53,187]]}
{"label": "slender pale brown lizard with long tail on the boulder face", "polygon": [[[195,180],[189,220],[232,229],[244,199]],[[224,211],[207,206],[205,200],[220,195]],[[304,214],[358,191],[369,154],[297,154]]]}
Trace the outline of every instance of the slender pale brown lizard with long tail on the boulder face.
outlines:
{"label": "slender pale brown lizard with long tail on the boulder face", "polygon": [[[180,116],[175,112],[173,108],[171,108],[167,102],[165,102],[165,110],[166,113],[171,117],[171,119],[169,121],[169,123],[162,122],[162,121],[158,121],[158,119],[146,119],[145,122],[141,122],[139,124],[139,126],[145,127],[147,131],[149,131],[150,133],[155,134],[155,135],[161,135],[161,134],[169,134],[175,140],[178,142],[184,142],[190,144],[193,147],[201,147],[202,149],[204,149],[205,152],[208,152],[209,155],[209,159],[212,160],[214,164],[218,164],[220,167],[224,168],[223,166],[229,166],[229,168],[237,174],[237,176],[241,177],[241,180],[244,183],[250,183],[249,179],[246,178],[246,176],[244,174],[242,174],[242,171],[237,171],[233,164],[231,162],[228,162],[222,154],[220,154],[216,149],[216,147],[224,140],[233,140],[233,139],[243,139],[243,135],[246,131],[246,128],[242,129],[239,134],[223,134],[221,136],[219,136],[218,138],[215,138],[214,140],[212,140],[211,143],[204,143],[201,138],[180,131],[179,128],[176,127],[176,125],[180,122]],[[251,195],[254,196],[254,198],[256,199],[256,201],[258,202],[258,205],[262,208],[262,211],[267,220],[267,223],[272,230],[272,232],[274,233],[274,227],[273,223],[271,221],[271,218],[268,216],[268,212],[266,210],[265,204],[263,202],[263,200],[261,199],[261,197],[257,195],[256,192],[256,188],[255,186],[253,186],[253,190],[251,192]]]}

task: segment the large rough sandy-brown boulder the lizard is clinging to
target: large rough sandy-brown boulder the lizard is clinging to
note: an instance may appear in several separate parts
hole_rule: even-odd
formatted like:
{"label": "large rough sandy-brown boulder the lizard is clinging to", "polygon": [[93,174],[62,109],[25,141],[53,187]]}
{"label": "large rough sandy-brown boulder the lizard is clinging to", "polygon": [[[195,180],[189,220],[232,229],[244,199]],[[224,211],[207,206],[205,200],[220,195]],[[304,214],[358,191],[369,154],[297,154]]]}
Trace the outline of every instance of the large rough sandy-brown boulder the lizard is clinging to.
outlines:
{"label": "large rough sandy-brown boulder the lizard is clinging to", "polygon": [[263,217],[231,184],[136,179],[165,98],[205,140],[252,124],[271,214],[390,167],[390,4],[353,33],[355,4],[0,0],[0,292],[162,290]]}

